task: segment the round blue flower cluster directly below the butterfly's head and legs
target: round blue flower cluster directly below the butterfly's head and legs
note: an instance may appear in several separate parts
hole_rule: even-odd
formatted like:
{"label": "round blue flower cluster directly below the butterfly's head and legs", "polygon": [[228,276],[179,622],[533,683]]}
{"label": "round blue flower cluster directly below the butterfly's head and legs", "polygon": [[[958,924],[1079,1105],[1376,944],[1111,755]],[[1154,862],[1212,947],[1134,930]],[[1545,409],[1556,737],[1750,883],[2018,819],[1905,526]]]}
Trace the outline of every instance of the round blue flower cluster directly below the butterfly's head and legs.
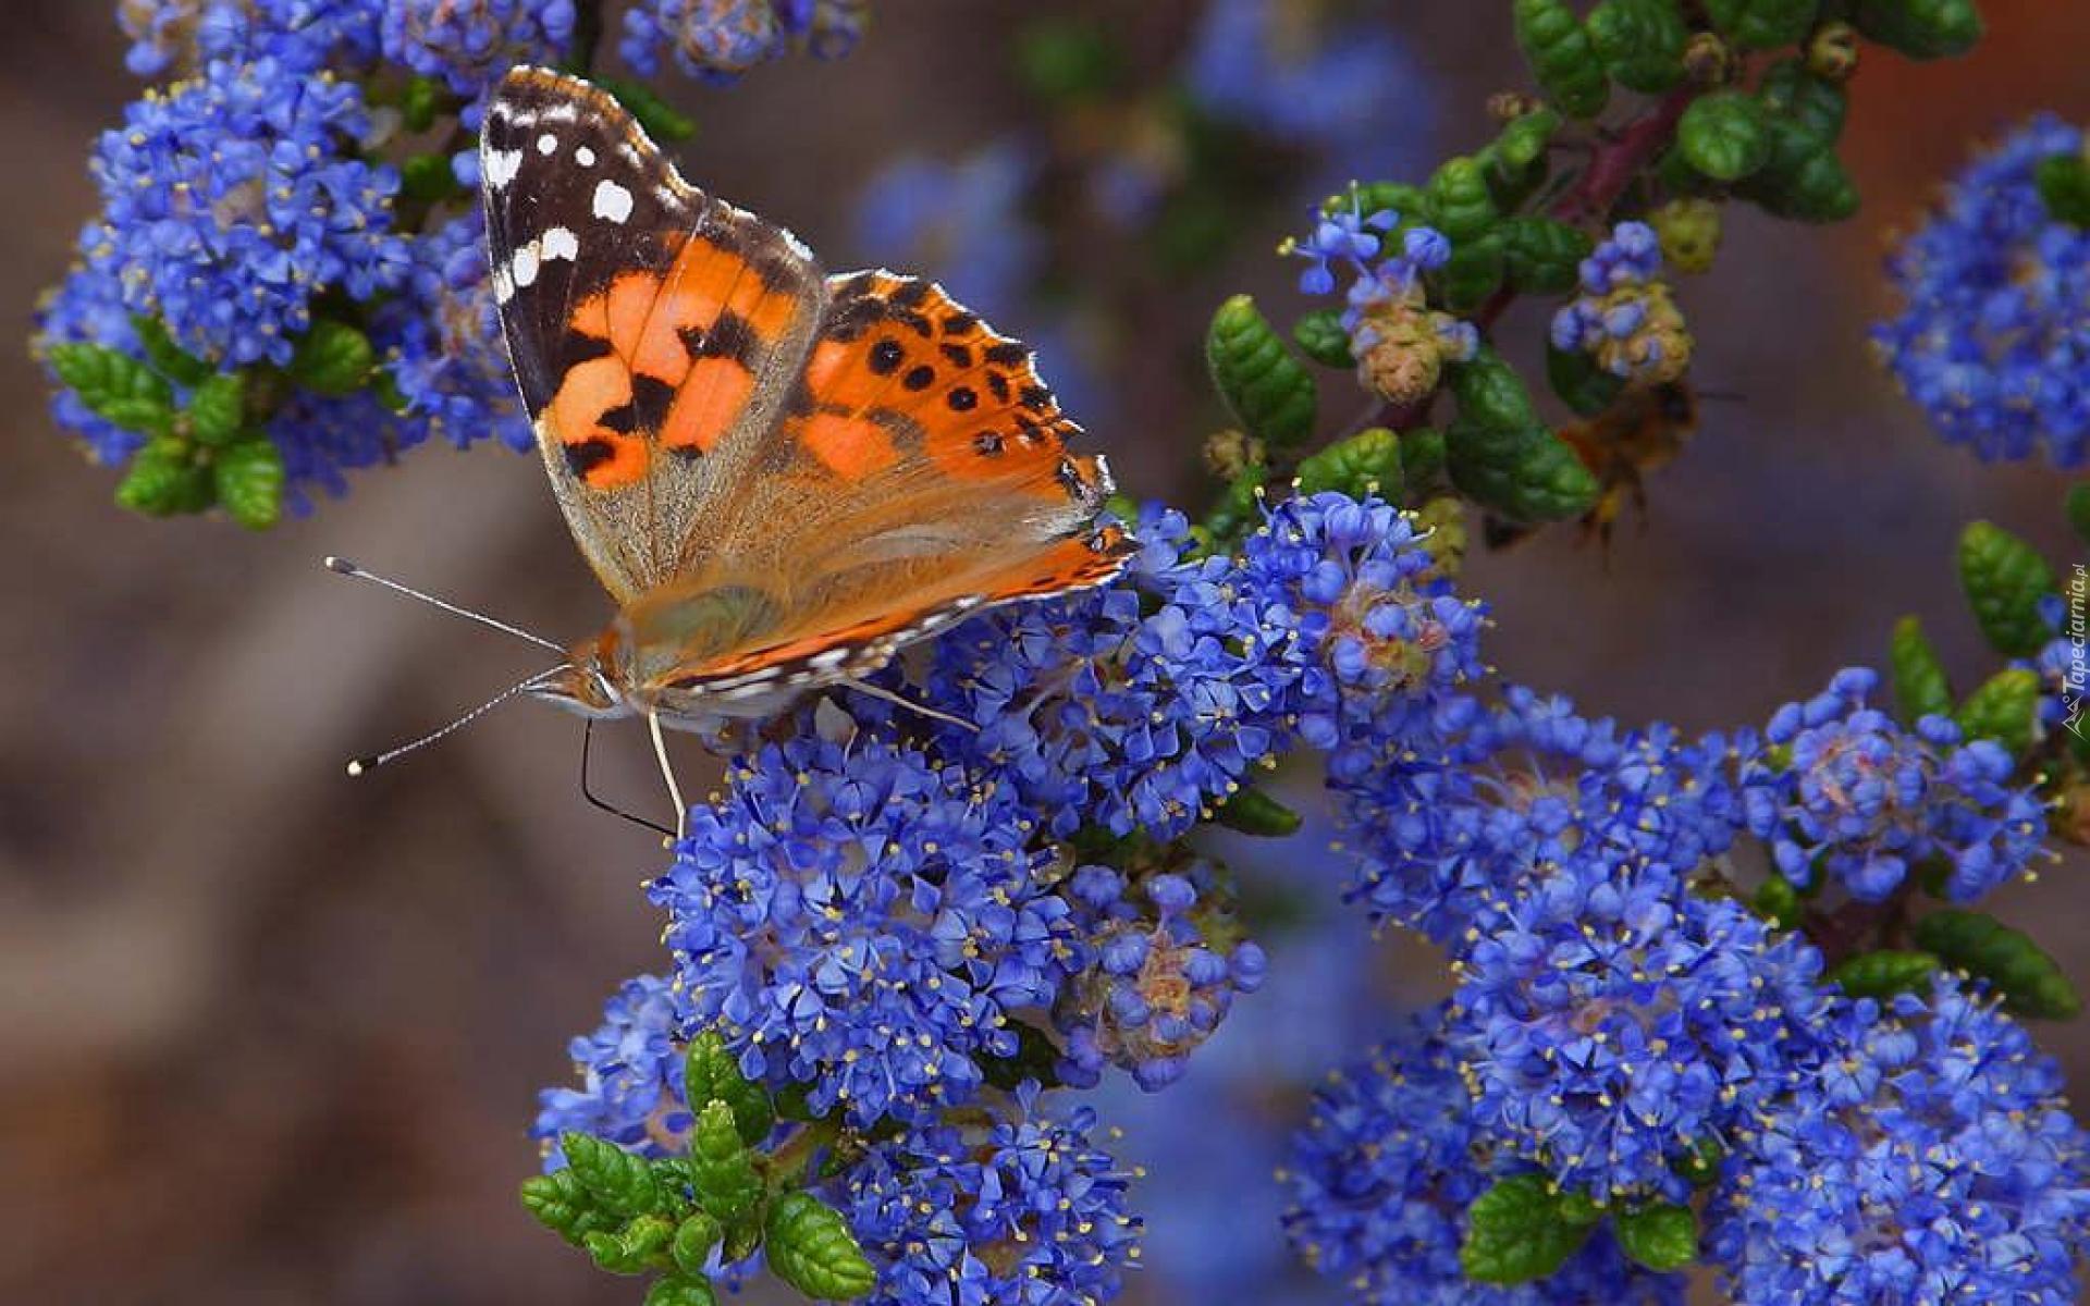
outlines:
{"label": "round blue flower cluster directly below the butterfly's head and legs", "polygon": [[773,744],[690,813],[652,886],[696,1024],[815,1112],[920,1120],[966,1101],[1012,1016],[1081,970],[1012,788],[869,733]]}

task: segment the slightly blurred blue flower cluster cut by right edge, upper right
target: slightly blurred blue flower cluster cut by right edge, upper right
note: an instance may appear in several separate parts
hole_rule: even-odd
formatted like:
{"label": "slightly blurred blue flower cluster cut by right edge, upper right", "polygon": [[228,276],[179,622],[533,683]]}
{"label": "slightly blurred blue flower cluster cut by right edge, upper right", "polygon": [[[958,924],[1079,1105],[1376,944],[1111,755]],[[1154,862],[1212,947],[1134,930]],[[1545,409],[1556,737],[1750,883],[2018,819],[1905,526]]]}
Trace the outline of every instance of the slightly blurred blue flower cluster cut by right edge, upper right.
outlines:
{"label": "slightly blurred blue flower cluster cut by right edge, upper right", "polygon": [[2090,230],[2034,184],[2042,159],[2082,150],[2082,130],[2031,119],[1887,261],[1904,307],[1873,345],[1937,435],[1988,462],[2090,456]]}

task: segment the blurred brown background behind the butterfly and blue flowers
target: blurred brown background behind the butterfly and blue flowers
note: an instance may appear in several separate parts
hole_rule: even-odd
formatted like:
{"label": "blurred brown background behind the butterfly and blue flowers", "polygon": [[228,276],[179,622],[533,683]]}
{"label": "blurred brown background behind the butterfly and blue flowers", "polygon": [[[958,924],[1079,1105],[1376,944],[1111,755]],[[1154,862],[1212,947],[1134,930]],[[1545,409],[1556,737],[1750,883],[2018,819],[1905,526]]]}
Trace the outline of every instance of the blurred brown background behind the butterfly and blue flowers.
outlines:
{"label": "blurred brown background behind the butterfly and blue flowers", "polygon": [[[17,305],[17,339],[94,205],[88,140],[138,92],[109,8],[6,6],[0,303]],[[955,155],[1030,113],[995,50],[1041,8],[884,0],[844,63],[679,88],[702,121],[683,159],[832,261],[876,259],[851,247],[849,196],[886,148]],[[1193,10],[1083,8],[1162,44]],[[1442,144],[1476,144],[1484,96],[1522,84],[1507,6],[1377,8],[1438,79]],[[1940,445],[1862,343],[1885,303],[1885,234],[1971,138],[2034,109],[2090,117],[2090,6],[1985,8],[1973,59],[1868,54],[1848,136],[1856,221],[1737,215],[1720,270],[1685,286],[1697,378],[1741,399],[1705,405],[1645,529],[1628,520],[1607,558],[1559,533],[1471,566],[1505,673],[1626,721],[1760,721],[1837,667],[1877,662],[1889,623],[1919,612],[1971,677],[1960,522],[1996,518],[2067,556],[2063,479]],[[1206,493],[1193,451],[1212,414],[1175,359],[1218,293],[1285,295],[1290,270],[1258,253],[1279,234],[1158,305],[1172,336],[1143,349],[1156,380],[1097,430],[1133,491]],[[652,838],[581,804],[579,731],[541,710],[359,784],[341,773],[527,667],[497,637],[330,581],[322,554],[554,635],[604,616],[535,460],[420,449],[251,537],[119,512],[111,474],[54,433],[19,347],[0,351],[0,387],[15,558],[0,587],[0,1300],[635,1302],[633,1283],[535,1229],[514,1183],[564,1041],[617,980],[660,963],[635,888]],[[604,765],[610,792],[656,804],[637,733],[612,731]],[[2011,894],[2071,959],[2090,938],[2082,871],[2067,861]],[[2080,1028],[2044,1036],[2073,1082],[2090,1078]],[[1177,1300],[1164,1264],[1135,1291]]]}

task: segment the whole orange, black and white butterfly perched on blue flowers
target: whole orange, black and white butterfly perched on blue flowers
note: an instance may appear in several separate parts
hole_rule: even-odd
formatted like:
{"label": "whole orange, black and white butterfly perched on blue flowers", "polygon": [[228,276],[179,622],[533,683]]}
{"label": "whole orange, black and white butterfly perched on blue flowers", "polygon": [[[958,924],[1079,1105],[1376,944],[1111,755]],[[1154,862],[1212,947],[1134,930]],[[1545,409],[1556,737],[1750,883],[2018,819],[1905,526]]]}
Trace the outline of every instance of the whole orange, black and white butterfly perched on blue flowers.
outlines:
{"label": "whole orange, black and white butterfly perched on blue flowers", "polygon": [[510,71],[479,173],[516,384],[619,604],[537,698],[656,738],[761,717],[1135,552],[1022,343],[934,282],[828,274],[608,92]]}

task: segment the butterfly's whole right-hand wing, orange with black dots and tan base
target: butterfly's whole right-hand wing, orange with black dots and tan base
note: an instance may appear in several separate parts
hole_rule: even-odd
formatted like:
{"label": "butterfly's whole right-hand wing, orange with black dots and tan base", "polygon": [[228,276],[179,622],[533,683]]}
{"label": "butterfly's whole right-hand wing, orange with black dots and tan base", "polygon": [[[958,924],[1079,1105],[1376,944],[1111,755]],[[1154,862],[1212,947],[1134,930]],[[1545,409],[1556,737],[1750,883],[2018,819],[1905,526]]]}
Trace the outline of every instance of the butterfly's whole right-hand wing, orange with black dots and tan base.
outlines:
{"label": "butterfly's whole right-hand wing, orange with black dots and tan base", "polygon": [[[995,604],[1099,585],[1101,458],[1066,449],[1030,351],[940,286],[830,280],[786,418],[704,564],[627,610],[654,690],[752,696],[861,675]],[[709,621],[719,596],[736,623]]]}

